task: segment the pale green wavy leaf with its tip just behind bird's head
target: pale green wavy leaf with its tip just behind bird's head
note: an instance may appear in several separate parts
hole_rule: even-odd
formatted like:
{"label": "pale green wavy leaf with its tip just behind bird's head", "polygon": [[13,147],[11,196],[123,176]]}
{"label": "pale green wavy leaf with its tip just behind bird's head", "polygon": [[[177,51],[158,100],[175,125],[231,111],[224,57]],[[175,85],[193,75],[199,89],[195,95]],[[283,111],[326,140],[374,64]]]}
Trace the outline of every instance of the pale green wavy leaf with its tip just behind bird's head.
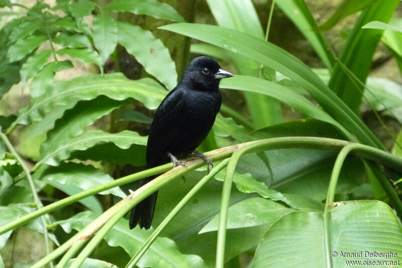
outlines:
{"label": "pale green wavy leaf with its tip just behind bird's head", "polygon": [[144,66],[145,70],[163,83],[167,89],[177,84],[177,73],[169,50],[150,31],[137,25],[118,23],[119,44]]}

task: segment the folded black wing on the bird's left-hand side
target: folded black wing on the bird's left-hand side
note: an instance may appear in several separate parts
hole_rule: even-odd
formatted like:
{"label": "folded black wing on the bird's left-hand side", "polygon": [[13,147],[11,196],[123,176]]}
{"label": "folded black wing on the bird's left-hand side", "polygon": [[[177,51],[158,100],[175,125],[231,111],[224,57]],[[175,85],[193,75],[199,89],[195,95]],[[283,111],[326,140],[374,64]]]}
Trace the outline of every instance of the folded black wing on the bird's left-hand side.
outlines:
{"label": "folded black wing on the bird's left-hand side", "polygon": [[176,87],[163,99],[151,124],[147,144],[147,168],[164,164],[166,151],[178,132],[185,113],[182,90]]}

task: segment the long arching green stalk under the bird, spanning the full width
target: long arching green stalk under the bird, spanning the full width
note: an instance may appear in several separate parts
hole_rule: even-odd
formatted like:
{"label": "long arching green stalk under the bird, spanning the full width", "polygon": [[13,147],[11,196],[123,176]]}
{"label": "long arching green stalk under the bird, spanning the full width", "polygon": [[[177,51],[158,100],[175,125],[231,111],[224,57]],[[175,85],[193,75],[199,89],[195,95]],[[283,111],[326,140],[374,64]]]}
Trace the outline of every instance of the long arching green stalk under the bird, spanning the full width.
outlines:
{"label": "long arching green stalk under the bird, spanning the full width", "polygon": [[[340,151],[346,145],[352,144],[352,143],[346,142],[346,141],[327,139],[327,138],[283,137],[283,138],[273,138],[273,139],[266,139],[266,140],[253,141],[253,142],[233,145],[233,146],[229,146],[229,147],[211,151],[211,152],[207,153],[206,155],[212,161],[218,161],[218,160],[228,158],[230,155],[232,155],[233,152],[235,152],[239,148],[242,148],[242,147],[245,147],[248,145],[261,146],[261,143],[264,144],[264,147],[260,151],[275,150],[275,149],[289,149],[289,148],[323,149],[323,150],[326,149],[326,150]],[[386,167],[392,168],[394,170],[402,171],[402,160],[400,160],[399,158],[397,158],[387,152],[384,152],[382,150],[373,148],[373,147],[369,147],[366,145],[360,145],[360,144],[358,146],[359,146],[359,149],[355,150],[355,155],[358,155],[358,156],[368,159],[368,160],[378,162],[378,163],[380,163]],[[192,170],[193,168],[198,168],[204,164],[204,162],[202,160],[191,160],[189,163],[192,164],[188,167],[189,170]],[[57,201],[53,204],[50,204],[46,207],[38,209],[28,215],[18,218],[16,220],[14,220],[13,222],[10,222],[4,226],[0,226],[0,234],[10,231],[11,229],[13,229],[15,227],[21,226],[21,225],[29,222],[30,220],[33,220],[43,214],[49,213],[49,212],[56,210],[58,208],[61,208],[63,206],[74,203],[82,198],[97,194],[102,191],[106,191],[108,189],[129,183],[129,182],[132,182],[135,180],[139,180],[139,179],[151,176],[151,175],[162,173],[164,171],[169,170],[171,167],[172,167],[172,164],[166,164],[166,165],[163,165],[160,167],[145,170],[145,171],[115,180],[113,182],[94,187],[92,189],[83,191],[79,194],[67,197],[67,198]],[[381,180],[381,184],[383,185],[386,193],[388,194],[390,200],[392,201],[398,215],[402,215],[402,202],[399,200],[399,198],[397,198],[397,195],[395,195],[395,191],[392,189],[391,185],[389,184],[389,181],[384,177],[380,178],[380,180]],[[387,186],[387,185],[389,185],[389,186]]]}

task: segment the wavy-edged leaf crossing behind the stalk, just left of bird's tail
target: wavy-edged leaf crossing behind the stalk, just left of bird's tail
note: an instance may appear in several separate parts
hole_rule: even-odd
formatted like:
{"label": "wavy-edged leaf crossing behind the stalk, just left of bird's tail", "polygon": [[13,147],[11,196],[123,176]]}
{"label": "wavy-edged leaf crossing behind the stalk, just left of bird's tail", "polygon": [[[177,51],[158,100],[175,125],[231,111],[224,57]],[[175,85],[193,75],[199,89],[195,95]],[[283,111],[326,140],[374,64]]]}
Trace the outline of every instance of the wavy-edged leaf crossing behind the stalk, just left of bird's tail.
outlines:
{"label": "wavy-edged leaf crossing behind the stalk, just left of bird's tail", "polygon": [[[91,165],[65,163],[58,167],[48,166],[40,173],[40,180],[56,181],[60,184],[75,185],[82,190],[112,182],[113,178]],[[113,194],[125,198],[126,194],[119,187],[100,192],[101,195]]]}

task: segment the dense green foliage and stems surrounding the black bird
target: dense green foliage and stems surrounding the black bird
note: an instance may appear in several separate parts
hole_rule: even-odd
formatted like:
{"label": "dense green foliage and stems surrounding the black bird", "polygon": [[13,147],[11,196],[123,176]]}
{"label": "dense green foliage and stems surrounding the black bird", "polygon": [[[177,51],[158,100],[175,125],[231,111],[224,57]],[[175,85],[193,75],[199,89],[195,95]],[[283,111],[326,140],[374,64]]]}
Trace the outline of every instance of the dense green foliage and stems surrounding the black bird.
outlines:
{"label": "dense green foliage and stems surrounding the black bird", "polygon": [[[339,1],[325,22],[304,0],[200,2],[216,25],[191,1],[0,0],[0,268],[402,265],[402,86],[371,73],[379,47],[402,72],[400,1]],[[275,13],[322,68],[269,42]],[[236,74],[199,148],[214,168],[138,189],[172,168],[144,170],[145,135],[190,53]],[[129,230],[158,189],[153,228]]]}

